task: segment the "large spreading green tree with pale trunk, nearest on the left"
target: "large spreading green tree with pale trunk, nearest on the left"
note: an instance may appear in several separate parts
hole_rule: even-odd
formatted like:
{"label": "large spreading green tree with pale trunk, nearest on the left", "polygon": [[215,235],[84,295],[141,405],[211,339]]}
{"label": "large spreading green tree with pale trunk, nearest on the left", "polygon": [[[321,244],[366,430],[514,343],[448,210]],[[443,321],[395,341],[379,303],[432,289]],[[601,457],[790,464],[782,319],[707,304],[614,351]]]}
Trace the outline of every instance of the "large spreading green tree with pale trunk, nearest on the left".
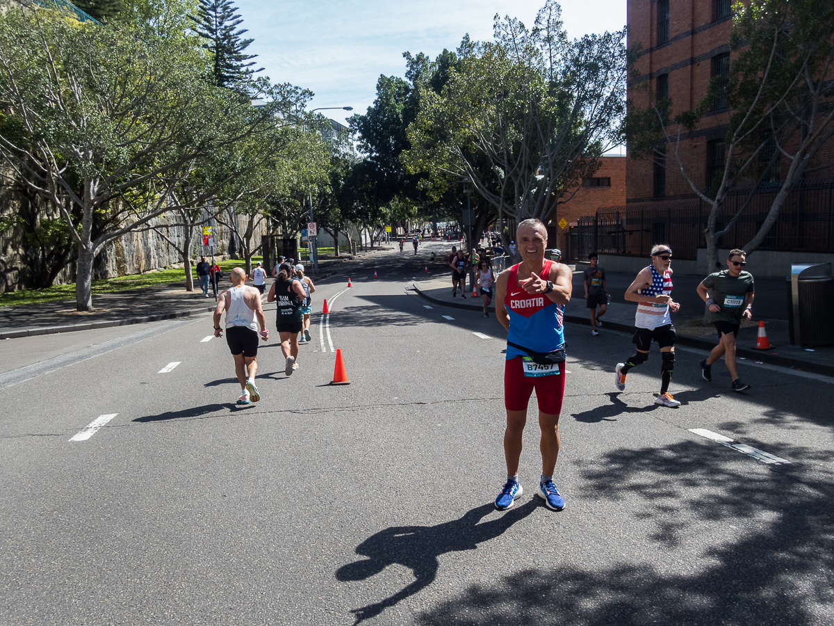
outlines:
{"label": "large spreading green tree with pale trunk, nearest on the left", "polygon": [[270,102],[253,109],[205,80],[181,7],[157,8],[158,18],[119,28],[27,8],[0,15],[0,156],[60,208],[78,250],[78,310],[92,309],[98,251],[175,209],[169,192],[193,159],[274,128],[276,110],[310,95],[260,80],[251,86]]}

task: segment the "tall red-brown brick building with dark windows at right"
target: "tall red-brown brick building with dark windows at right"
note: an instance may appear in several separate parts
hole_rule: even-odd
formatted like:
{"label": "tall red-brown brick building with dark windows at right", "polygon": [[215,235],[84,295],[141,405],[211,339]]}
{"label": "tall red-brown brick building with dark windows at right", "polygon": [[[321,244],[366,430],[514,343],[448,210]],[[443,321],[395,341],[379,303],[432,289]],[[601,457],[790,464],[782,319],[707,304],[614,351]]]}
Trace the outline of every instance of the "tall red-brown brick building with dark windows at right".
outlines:
{"label": "tall red-brown brick building with dark windows at right", "polygon": [[[704,98],[712,78],[719,89],[708,112],[691,133],[681,136],[681,161],[698,189],[706,190],[725,164],[727,123],[731,112],[721,77],[730,72],[732,32],[731,0],[627,0],[628,46],[640,45],[636,60],[638,78],[629,83],[628,97],[646,108],[646,87],[657,99],[671,98],[672,117],[695,109]],[[790,146],[788,146],[790,149]],[[773,150],[776,150],[774,144]],[[834,141],[822,154],[834,152]],[[664,242],[676,251],[676,268],[702,274],[706,268],[706,204],[698,199],[677,171],[670,155],[662,159],[625,159],[625,202],[581,215],[570,229],[565,246],[570,258],[588,250],[615,256],[606,268],[632,270],[645,264],[651,245]],[[776,161],[771,179],[755,194],[741,219],[720,241],[726,250],[742,247],[760,230],[770,210],[788,159]],[[666,167],[668,166],[668,167]],[[817,171],[803,179],[789,195],[776,225],[748,259],[757,275],[786,275],[791,262],[834,260],[834,171]],[[740,187],[743,187],[741,184]],[[730,194],[721,210],[719,228],[741,207],[748,189]],[[626,257],[631,257],[628,259]],[[636,258],[635,258],[636,257]],[[681,261],[684,261],[681,263]]]}

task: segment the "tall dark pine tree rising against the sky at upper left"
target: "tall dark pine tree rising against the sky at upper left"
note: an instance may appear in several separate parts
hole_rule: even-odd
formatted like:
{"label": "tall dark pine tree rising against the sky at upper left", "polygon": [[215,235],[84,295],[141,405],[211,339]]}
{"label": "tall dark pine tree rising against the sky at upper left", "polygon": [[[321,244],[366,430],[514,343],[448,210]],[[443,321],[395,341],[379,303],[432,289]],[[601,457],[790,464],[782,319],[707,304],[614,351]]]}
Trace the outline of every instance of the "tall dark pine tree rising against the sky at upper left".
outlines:
{"label": "tall dark pine tree rising against the sky at upper left", "polygon": [[203,48],[214,54],[214,80],[220,87],[236,88],[264,69],[252,69],[255,62],[249,59],[258,55],[244,53],[254,39],[240,38],[247,30],[236,30],[244,21],[237,10],[232,0],[199,0],[197,16],[192,17],[194,30],[206,39]]}

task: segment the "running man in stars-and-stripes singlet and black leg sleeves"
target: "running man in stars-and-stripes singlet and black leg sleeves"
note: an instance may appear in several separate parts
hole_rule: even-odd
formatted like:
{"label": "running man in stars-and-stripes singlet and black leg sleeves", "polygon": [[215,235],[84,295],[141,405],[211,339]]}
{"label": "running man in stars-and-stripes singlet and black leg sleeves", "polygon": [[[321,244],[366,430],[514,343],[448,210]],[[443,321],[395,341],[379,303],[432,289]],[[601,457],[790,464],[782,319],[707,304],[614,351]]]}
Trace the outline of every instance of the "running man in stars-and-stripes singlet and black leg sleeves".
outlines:
{"label": "running man in stars-and-stripes singlet and black leg sleeves", "polygon": [[658,244],[651,249],[651,265],[640,270],[637,278],[625,290],[625,300],[637,303],[634,325],[637,331],[632,343],[637,351],[625,363],[617,363],[614,384],[625,390],[625,375],[632,367],[649,360],[651,342],[661,346],[661,393],[655,404],[681,406],[669,393],[669,381],[675,369],[675,326],[672,326],[670,310],[681,308],[672,302],[672,251],[668,245]]}

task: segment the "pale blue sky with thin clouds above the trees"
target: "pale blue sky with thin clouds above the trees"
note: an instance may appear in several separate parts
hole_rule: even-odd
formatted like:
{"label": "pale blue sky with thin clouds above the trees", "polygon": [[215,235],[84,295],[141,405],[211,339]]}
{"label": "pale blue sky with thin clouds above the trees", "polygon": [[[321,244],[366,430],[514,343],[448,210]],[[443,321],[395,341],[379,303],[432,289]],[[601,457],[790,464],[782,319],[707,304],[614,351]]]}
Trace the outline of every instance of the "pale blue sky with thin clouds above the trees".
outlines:
{"label": "pale blue sky with thin clouds above the trees", "polygon": [[[352,112],[321,111],[345,124],[374,103],[380,74],[404,76],[403,53],[435,58],[454,50],[466,33],[475,41],[492,38],[495,13],[519,18],[533,28],[544,0],[236,0],[254,38],[247,48],[257,54],[255,68],[273,83],[292,83],[315,93],[308,110],[354,108]],[[573,0],[562,4],[562,20],[571,38],[625,26],[625,0]]]}

